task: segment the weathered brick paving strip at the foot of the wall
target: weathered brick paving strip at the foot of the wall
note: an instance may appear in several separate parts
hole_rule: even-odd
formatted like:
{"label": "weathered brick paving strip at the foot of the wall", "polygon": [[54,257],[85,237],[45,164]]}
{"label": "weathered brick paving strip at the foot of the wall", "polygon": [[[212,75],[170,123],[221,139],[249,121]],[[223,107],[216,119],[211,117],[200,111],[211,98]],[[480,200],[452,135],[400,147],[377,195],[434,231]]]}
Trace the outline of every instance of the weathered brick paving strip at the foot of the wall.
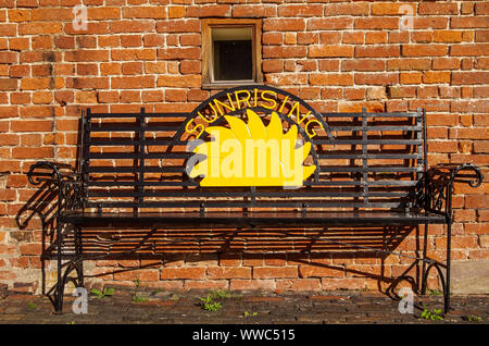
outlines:
{"label": "weathered brick paving strip at the foot of the wall", "polygon": [[[135,298],[136,296],[139,298]],[[115,288],[112,296],[89,295],[88,313],[72,311],[74,297],[65,298],[62,314],[54,314],[45,296],[3,293],[0,323],[55,324],[324,324],[324,323],[489,323],[489,295],[452,296],[452,310],[443,320],[422,318],[423,309],[442,307],[437,295],[415,296],[414,313],[400,313],[399,301],[380,293],[221,292],[222,308],[209,311],[201,298],[215,292],[158,292]]]}

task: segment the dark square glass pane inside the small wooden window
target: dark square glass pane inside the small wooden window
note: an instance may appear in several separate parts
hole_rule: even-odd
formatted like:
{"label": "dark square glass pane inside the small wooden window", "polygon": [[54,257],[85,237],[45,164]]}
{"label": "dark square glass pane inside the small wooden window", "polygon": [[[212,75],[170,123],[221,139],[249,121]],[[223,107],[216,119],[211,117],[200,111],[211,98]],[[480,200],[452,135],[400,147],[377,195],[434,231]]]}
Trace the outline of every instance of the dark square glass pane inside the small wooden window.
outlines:
{"label": "dark square glass pane inside the small wooden window", "polygon": [[253,79],[251,40],[214,41],[214,79]]}

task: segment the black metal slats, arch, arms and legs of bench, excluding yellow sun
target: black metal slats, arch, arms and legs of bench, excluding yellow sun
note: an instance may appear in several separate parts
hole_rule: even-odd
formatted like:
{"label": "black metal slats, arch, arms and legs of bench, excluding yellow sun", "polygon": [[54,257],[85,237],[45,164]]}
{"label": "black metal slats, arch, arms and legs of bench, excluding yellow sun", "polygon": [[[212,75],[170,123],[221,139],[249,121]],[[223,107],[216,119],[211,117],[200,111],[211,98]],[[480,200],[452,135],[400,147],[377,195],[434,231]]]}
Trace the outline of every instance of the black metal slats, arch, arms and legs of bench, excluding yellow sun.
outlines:
{"label": "black metal slats, arch, arms and legs of bench, excluding yellow sun", "polygon": [[[279,101],[285,104],[285,100],[298,102],[303,112],[310,112],[321,124],[316,135],[310,136],[301,122],[290,116],[290,110],[280,108],[278,112],[285,126],[298,125],[302,139],[311,141],[313,149],[309,160],[317,168],[315,174],[298,189],[201,187],[199,180],[186,174],[186,162],[192,156],[187,151],[192,137],[186,126],[202,115],[214,100],[238,90],[256,92],[254,88],[274,91],[277,104]],[[247,108],[259,112],[266,121],[271,110],[254,103]],[[246,112],[238,109],[230,113],[243,116]],[[223,125],[223,118],[210,122],[210,125],[217,124]],[[62,311],[65,284],[68,281],[83,284],[85,259],[124,258],[138,251],[145,256],[154,255],[161,245],[149,240],[150,233],[155,227],[170,226],[215,228],[213,236],[228,237],[228,240],[239,236],[246,238],[250,230],[273,228],[269,232],[280,234],[280,239],[306,238],[313,243],[324,242],[335,249],[350,247],[409,257],[423,265],[423,293],[428,273],[432,268],[437,270],[446,311],[449,309],[453,184],[467,177],[463,173],[471,172],[475,180],[465,182],[476,187],[481,183],[481,174],[473,164],[428,169],[426,120],[421,109],[409,113],[368,113],[365,109],[359,113],[317,113],[287,91],[247,86],[216,94],[191,113],[148,113],[141,109],[136,114],[106,114],[92,113],[88,109],[82,114],[80,133],[77,170],[41,161],[28,172],[32,184],[52,182],[58,189],[57,239],[50,247],[52,258],[58,261],[58,283],[48,293],[53,297],[58,312]],[[124,245],[124,239],[109,239],[110,246],[118,244],[126,249],[121,252],[111,252],[109,247],[106,252],[89,254],[88,248],[92,245],[84,247],[83,239],[88,236],[82,234],[84,227],[121,224],[148,225],[152,231],[137,245],[130,242]],[[427,257],[429,224],[447,224],[446,263]],[[419,225],[425,225],[421,257],[397,252],[386,245],[375,247],[328,237],[335,227],[369,226],[390,232],[391,227],[401,230]],[[237,231],[218,232],[230,226]],[[304,228],[300,234],[284,231],[297,226],[317,230]],[[67,245],[72,244],[68,238],[73,238],[73,246]],[[212,236],[204,232],[190,238],[162,242],[168,246],[198,242],[200,249],[202,242],[210,238]],[[95,242],[98,245],[104,242],[99,240]],[[72,273],[75,273],[74,277],[70,276]]]}

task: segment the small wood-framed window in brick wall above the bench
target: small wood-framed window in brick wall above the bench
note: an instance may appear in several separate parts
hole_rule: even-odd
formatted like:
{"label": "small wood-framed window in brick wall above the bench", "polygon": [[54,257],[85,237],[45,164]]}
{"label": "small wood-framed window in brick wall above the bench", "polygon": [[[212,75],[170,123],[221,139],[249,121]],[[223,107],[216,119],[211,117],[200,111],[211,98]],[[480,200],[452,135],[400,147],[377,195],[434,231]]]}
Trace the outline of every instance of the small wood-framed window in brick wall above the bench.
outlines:
{"label": "small wood-framed window in brick wall above the bench", "polygon": [[263,82],[261,21],[202,21],[202,87],[222,89]]}

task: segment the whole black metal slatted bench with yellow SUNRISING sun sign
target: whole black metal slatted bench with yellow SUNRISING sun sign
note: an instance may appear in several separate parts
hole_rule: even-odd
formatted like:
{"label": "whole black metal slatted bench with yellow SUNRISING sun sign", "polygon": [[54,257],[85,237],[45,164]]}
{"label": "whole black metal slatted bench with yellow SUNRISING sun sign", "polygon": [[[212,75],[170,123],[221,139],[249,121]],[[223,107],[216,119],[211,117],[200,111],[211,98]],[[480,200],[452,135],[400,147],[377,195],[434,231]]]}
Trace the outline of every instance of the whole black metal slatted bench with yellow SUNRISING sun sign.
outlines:
{"label": "whole black metal slatted bench with yellow SUNRISING sun sign", "polygon": [[[265,151],[253,159],[256,172],[250,169],[250,176],[236,178],[233,174],[246,171],[239,170],[240,156],[228,156],[225,162],[226,156],[218,151],[213,162],[221,164],[221,171],[204,184],[206,175],[199,173],[211,176],[212,166],[198,165],[213,153],[202,155],[201,149],[224,143],[210,134],[225,136],[231,131],[239,137],[248,131],[246,138],[255,140],[263,128],[268,137],[262,139],[283,134],[296,143],[290,155],[302,150],[304,161],[299,165],[294,161],[287,171],[303,169],[296,170],[305,174],[300,184],[283,180],[280,186],[280,180],[269,178],[273,156],[280,153],[263,141],[253,148]],[[229,147],[239,140],[229,141]],[[288,152],[284,146],[281,150]],[[283,156],[279,160],[285,164]],[[58,312],[66,283],[84,285],[84,260],[164,258],[165,247],[202,251],[206,242],[217,239],[222,243],[210,246],[210,251],[308,254],[318,246],[319,251],[404,256],[422,265],[422,293],[428,273],[437,270],[448,311],[453,183],[474,187],[481,183],[479,170],[472,164],[428,169],[424,110],[317,113],[297,96],[268,86],[218,92],[190,113],[141,109],[106,114],[88,109],[82,114],[77,168],[40,161],[30,168],[28,178],[32,184],[48,184],[59,198],[55,237],[43,250],[45,259],[58,263],[58,283],[48,292]],[[444,263],[427,256],[429,224],[447,225]],[[402,238],[421,225],[425,226],[422,255],[396,251]],[[355,227],[363,230],[363,237],[379,230],[389,236],[386,239],[384,233],[381,244],[358,240]],[[124,231],[113,237],[111,228],[148,230],[136,242]],[[155,236],[160,228],[167,232]],[[196,232],[178,231],[183,228]],[[87,240],[100,240],[104,234],[110,235],[109,246]]]}

